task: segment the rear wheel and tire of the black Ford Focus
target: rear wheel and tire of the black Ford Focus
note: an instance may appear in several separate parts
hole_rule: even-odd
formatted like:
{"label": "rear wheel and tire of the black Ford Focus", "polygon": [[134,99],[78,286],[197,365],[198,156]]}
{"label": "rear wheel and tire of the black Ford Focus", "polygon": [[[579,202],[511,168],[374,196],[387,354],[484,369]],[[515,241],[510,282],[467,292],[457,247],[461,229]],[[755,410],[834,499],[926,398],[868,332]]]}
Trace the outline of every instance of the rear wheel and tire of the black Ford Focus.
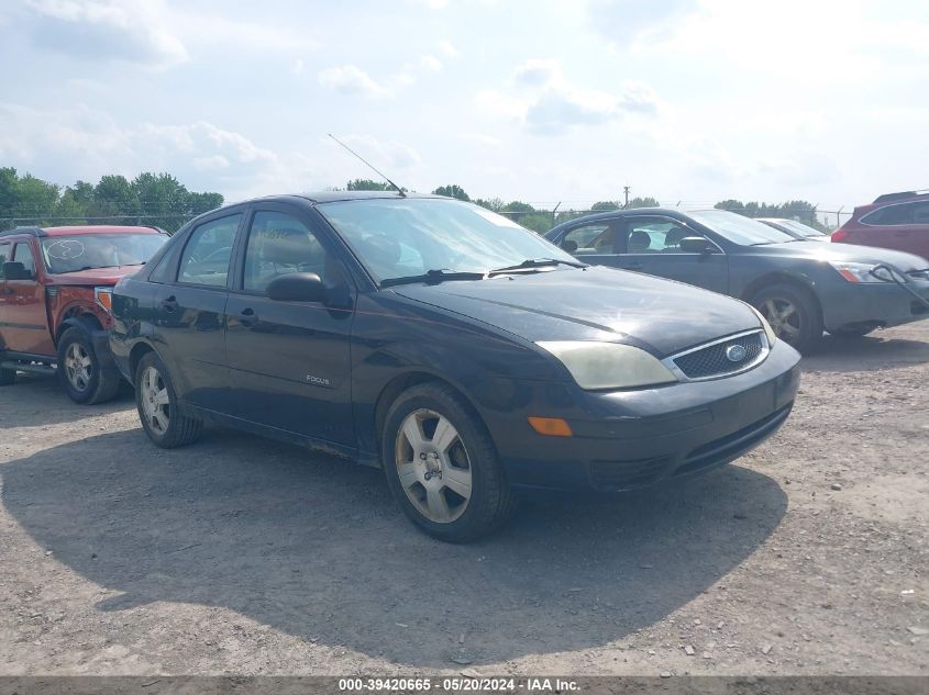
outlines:
{"label": "rear wheel and tire of the black Ford Focus", "polygon": [[177,406],[165,363],[155,352],[147,352],[135,369],[135,407],[142,428],[155,446],[174,449],[196,441],[203,423],[185,415]]}

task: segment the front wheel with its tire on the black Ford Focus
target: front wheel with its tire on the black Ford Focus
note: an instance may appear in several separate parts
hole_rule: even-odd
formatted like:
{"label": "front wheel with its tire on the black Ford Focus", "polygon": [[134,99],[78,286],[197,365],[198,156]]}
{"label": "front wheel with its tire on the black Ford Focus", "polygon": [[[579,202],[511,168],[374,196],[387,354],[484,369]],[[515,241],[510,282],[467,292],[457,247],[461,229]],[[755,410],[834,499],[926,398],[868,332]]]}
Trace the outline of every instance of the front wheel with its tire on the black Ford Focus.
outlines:
{"label": "front wheel with its tire on the black Ford Focus", "polygon": [[453,389],[412,386],[390,406],[381,461],[403,513],[430,536],[467,542],[505,524],[516,498],[484,423]]}

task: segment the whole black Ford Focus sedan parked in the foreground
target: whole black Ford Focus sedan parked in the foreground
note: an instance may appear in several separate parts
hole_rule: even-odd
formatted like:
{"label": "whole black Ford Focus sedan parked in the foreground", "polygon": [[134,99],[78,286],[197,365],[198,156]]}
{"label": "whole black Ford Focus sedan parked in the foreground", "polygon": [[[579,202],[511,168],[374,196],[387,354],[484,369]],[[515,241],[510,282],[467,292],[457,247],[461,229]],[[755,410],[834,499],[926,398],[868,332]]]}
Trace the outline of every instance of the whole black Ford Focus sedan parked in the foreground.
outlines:
{"label": "whole black Ford Focus sedan parked in the foreground", "polygon": [[155,445],[218,423],[381,467],[451,541],[500,526],[519,487],[626,491],[732,461],[784,423],[799,380],[748,304],[587,266],[436,197],[213,211],[112,304]]}

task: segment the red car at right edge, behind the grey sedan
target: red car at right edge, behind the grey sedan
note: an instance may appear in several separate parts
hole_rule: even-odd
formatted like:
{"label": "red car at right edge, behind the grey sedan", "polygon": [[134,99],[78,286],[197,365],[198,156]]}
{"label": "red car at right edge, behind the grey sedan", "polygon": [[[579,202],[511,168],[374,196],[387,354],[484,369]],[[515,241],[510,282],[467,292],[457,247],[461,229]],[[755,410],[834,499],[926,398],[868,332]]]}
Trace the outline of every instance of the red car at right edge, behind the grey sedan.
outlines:
{"label": "red car at right edge, behind the grey sedan", "polygon": [[855,208],[851,220],[832,233],[832,240],[929,258],[929,192],[880,195],[870,205]]}

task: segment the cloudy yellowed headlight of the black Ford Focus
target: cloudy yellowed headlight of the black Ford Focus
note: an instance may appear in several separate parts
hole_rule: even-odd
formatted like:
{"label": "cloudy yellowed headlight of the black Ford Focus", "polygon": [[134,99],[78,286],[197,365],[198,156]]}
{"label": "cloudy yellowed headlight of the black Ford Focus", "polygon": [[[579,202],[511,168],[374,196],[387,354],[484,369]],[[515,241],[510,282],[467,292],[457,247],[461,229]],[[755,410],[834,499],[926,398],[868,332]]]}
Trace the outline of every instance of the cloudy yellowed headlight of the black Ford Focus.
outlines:
{"label": "cloudy yellowed headlight of the black Ford Focus", "polygon": [[582,389],[631,389],[677,381],[657,358],[631,345],[586,340],[537,345],[554,355]]}

